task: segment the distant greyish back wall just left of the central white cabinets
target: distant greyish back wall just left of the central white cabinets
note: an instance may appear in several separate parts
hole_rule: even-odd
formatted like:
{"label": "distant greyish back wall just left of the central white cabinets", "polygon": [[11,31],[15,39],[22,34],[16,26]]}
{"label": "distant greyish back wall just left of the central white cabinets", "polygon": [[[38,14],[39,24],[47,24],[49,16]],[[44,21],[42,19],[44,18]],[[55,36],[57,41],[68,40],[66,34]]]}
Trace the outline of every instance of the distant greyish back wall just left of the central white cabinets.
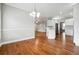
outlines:
{"label": "distant greyish back wall just left of the central white cabinets", "polygon": [[38,24],[36,24],[36,31],[46,32],[47,17],[40,16],[37,20]]}

